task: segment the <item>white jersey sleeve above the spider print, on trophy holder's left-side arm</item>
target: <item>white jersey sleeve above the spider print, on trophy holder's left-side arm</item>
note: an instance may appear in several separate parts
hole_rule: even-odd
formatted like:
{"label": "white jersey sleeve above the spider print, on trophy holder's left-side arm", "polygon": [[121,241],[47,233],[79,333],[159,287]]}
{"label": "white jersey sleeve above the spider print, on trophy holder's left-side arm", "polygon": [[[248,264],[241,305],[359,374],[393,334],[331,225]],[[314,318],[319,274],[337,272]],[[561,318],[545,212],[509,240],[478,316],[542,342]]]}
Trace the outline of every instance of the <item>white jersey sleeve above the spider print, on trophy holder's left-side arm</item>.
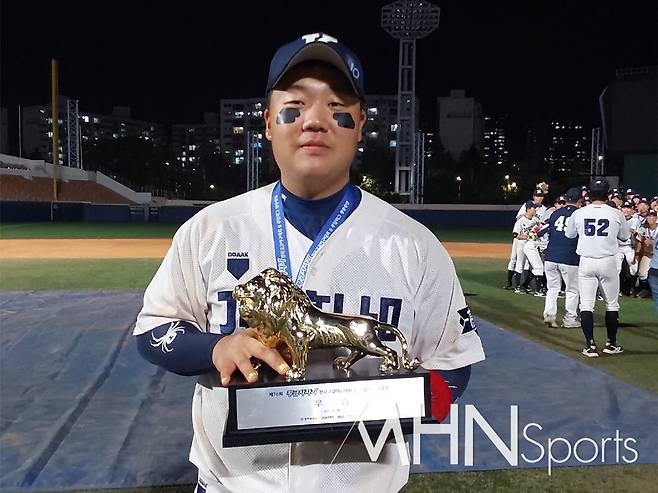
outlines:
{"label": "white jersey sleeve above the spider print, on trophy holder's left-side arm", "polygon": [[198,239],[188,221],[176,232],[162,264],[144,293],[133,335],[182,320],[206,331],[207,303]]}

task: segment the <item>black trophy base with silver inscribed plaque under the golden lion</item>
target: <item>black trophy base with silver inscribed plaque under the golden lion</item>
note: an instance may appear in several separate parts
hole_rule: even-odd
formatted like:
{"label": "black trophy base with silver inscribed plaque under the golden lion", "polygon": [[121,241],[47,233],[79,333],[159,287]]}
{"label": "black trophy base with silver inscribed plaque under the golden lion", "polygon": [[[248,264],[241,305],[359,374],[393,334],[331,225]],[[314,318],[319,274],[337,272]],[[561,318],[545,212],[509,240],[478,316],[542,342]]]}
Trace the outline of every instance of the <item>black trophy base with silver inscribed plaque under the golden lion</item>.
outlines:
{"label": "black trophy base with silver inscribed plaque under the golden lion", "polygon": [[363,422],[376,440],[387,419],[404,434],[414,418],[433,422],[429,373],[380,373],[381,358],[364,358],[346,372],[333,368],[336,350],[309,353],[306,378],[288,382],[265,365],[254,384],[235,379],[228,388],[224,447],[359,439]]}

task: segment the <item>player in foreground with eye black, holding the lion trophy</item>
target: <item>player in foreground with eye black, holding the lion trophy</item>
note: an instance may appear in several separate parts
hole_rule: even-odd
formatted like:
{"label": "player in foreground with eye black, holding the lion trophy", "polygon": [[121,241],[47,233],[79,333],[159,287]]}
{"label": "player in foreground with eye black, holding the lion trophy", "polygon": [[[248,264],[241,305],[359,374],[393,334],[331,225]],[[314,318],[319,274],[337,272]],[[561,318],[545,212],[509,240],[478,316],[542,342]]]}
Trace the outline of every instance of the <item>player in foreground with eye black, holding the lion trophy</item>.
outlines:
{"label": "player in foreground with eye black, holding the lion trophy", "polygon": [[234,373],[256,382],[252,358],[281,374],[288,369],[253,329],[241,327],[231,296],[268,267],[290,276],[323,310],[399,327],[411,357],[432,369],[439,419],[450,404],[444,391],[458,396],[470,365],[484,359],[443,246],[349,182],[366,120],[357,57],[327,34],[302,36],[275,53],[266,92],[265,135],[281,180],[206,207],[178,230],[144,294],[138,348],[155,364],[199,375],[190,452],[198,491],[398,491],[409,467],[393,443],[376,462],[360,441],[222,444],[225,386]]}

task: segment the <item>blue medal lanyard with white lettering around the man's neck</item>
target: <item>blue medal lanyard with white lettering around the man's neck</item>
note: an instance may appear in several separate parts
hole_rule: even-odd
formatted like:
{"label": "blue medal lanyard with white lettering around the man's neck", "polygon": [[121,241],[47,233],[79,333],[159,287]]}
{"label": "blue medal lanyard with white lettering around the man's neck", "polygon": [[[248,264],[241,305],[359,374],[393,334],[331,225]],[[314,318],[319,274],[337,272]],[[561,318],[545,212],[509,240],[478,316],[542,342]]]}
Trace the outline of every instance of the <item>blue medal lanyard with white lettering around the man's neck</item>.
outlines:
{"label": "blue medal lanyard with white lettering around the man's neck", "polygon": [[[292,279],[292,268],[290,266],[290,250],[288,248],[288,234],[286,232],[286,221],[283,213],[283,199],[281,197],[282,186],[281,181],[278,181],[272,190],[272,201],[270,211],[272,214],[272,236],[274,239],[274,255],[276,257],[276,268],[283,274]],[[343,192],[338,205],[327,219],[327,222],[322,226],[322,229],[315,237],[313,244],[306,252],[304,260],[302,261],[295,284],[300,288],[304,286],[306,275],[308,273],[308,266],[310,265],[313,257],[318,253],[320,248],[329,240],[329,237],[338,229],[338,227],[345,221],[347,216],[354,208],[357,198],[356,187],[349,184]]]}

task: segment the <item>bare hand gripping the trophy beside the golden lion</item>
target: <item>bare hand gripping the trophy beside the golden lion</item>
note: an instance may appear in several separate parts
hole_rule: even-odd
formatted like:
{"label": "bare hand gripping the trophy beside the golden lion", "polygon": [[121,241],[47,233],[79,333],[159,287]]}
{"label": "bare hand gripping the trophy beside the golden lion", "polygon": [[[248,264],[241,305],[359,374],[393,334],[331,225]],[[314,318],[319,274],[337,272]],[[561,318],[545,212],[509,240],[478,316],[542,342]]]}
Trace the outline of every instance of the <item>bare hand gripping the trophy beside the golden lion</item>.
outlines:
{"label": "bare hand gripping the trophy beside the golden lion", "polygon": [[265,362],[281,375],[290,369],[276,349],[268,348],[256,338],[256,329],[252,328],[222,337],[212,350],[212,362],[224,386],[229,384],[235,370],[240,370],[249,383],[258,381],[251,358]]}

